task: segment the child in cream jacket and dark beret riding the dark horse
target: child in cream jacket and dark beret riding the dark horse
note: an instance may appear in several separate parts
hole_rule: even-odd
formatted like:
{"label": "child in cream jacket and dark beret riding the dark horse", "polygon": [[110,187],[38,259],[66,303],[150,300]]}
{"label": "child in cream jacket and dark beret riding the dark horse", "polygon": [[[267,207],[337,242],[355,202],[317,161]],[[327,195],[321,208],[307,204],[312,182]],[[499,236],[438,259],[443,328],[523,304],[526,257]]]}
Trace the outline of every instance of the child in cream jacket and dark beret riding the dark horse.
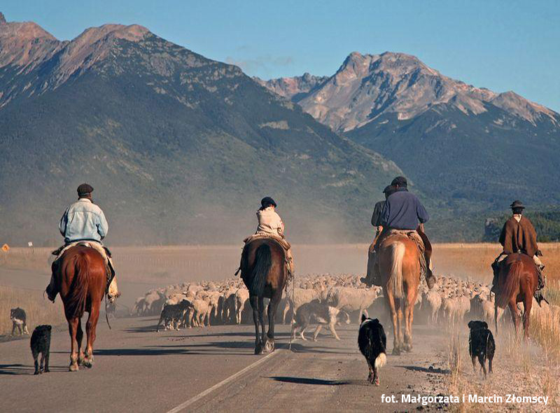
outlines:
{"label": "child in cream jacket and dark beret riding the dark horse", "polygon": [[[253,239],[272,238],[277,241],[286,251],[286,265],[288,273],[293,274],[293,257],[290,243],[284,236],[284,223],[276,212],[276,202],[271,197],[264,197],[260,200],[260,208],[257,211],[258,226],[254,235],[244,239],[245,244]],[[241,269],[241,266],[239,266]],[[237,274],[237,272],[236,272]]]}

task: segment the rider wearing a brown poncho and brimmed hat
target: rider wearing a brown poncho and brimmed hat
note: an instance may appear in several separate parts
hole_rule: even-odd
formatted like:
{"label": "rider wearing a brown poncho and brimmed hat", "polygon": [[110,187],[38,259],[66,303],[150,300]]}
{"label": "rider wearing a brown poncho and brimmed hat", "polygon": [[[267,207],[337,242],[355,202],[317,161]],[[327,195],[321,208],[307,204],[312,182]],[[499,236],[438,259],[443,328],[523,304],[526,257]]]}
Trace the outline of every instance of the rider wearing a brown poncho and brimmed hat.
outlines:
{"label": "rider wearing a brown poncho and brimmed hat", "polygon": [[542,274],[542,269],[545,266],[542,265],[539,258],[539,255],[542,255],[542,253],[537,245],[537,232],[533,227],[533,223],[523,216],[525,207],[521,201],[512,202],[510,208],[512,209],[512,216],[505,221],[500,233],[500,244],[503,246],[503,251],[492,262],[494,276],[491,291],[496,293],[496,283],[500,274],[500,262],[509,254],[521,252],[533,257],[533,262],[535,262],[538,268],[538,286],[537,290],[535,290],[535,300],[540,304],[541,300],[545,300],[542,288],[545,288],[546,280],[544,274]]}

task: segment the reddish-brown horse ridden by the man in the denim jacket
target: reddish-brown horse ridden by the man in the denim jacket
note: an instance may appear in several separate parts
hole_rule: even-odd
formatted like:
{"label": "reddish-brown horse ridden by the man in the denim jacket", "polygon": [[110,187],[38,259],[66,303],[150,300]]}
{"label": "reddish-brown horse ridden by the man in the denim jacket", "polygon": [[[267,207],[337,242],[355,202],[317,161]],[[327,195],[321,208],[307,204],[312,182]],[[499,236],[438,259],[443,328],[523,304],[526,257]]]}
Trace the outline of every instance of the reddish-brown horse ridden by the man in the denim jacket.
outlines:
{"label": "reddish-brown horse ridden by the man in the denim jacket", "polygon": [[[54,276],[64,303],[64,315],[70,332],[70,371],[77,371],[79,364],[92,367],[95,328],[107,279],[105,261],[93,248],[74,246],[59,258]],[[81,318],[85,311],[89,312],[90,316],[85,324],[87,346],[84,356]]]}

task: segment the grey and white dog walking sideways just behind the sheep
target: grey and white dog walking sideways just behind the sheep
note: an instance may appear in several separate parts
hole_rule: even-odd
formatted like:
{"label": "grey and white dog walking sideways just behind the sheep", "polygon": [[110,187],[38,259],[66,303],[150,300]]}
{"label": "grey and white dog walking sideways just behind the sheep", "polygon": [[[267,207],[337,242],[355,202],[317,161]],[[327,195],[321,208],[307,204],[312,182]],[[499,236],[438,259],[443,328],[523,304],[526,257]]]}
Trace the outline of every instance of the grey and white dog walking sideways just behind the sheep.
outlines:
{"label": "grey and white dog walking sideways just behind the sheep", "polygon": [[[344,311],[340,311],[335,307],[330,307],[328,304],[323,304],[319,302],[319,300],[313,300],[311,302],[306,302],[305,304],[300,305],[295,311],[294,317],[294,326],[293,326],[293,336],[295,338],[295,330],[300,328],[300,337],[302,339],[306,339],[304,332],[307,327],[309,327],[309,323],[317,323],[317,328],[313,333],[313,341],[317,341],[317,336],[323,328],[323,325],[328,325],[328,329],[335,339],[339,340],[337,332],[335,330],[335,325],[337,323],[337,316],[339,313]],[[350,322],[348,314],[346,314],[347,323]]]}

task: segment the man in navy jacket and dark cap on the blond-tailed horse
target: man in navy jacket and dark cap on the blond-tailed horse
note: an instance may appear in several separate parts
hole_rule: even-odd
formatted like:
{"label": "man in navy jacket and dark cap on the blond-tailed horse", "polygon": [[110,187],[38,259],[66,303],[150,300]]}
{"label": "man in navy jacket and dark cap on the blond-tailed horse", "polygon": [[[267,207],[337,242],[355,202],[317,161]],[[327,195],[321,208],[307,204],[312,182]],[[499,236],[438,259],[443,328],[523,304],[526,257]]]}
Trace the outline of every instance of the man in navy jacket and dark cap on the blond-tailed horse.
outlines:
{"label": "man in navy jacket and dark cap on the blond-tailed horse", "polygon": [[418,246],[420,255],[421,272],[426,276],[428,288],[435,285],[435,276],[432,273],[431,253],[432,247],[428,237],[423,232],[423,224],[430,219],[428,212],[421,204],[416,195],[408,192],[407,179],[397,176],[391,182],[394,192],[387,197],[383,211],[381,212],[381,233],[377,244],[381,244],[381,238],[393,234],[409,237]]}

